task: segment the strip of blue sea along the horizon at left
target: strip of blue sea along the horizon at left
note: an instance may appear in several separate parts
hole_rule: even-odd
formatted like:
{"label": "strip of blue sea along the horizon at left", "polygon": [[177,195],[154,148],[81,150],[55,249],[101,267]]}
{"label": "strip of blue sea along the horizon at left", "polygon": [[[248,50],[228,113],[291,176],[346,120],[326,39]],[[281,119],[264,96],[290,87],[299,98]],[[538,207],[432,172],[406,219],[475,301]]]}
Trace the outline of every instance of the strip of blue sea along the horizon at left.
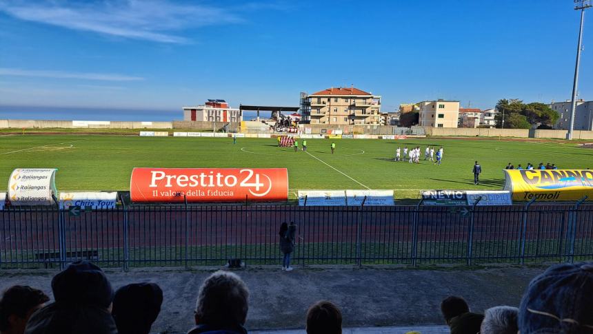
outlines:
{"label": "strip of blue sea along the horizon at left", "polygon": [[[243,121],[250,121],[256,112],[243,112]],[[261,112],[261,117],[270,113]],[[39,121],[183,121],[183,109],[133,109],[101,107],[43,107],[0,105],[0,119]]]}

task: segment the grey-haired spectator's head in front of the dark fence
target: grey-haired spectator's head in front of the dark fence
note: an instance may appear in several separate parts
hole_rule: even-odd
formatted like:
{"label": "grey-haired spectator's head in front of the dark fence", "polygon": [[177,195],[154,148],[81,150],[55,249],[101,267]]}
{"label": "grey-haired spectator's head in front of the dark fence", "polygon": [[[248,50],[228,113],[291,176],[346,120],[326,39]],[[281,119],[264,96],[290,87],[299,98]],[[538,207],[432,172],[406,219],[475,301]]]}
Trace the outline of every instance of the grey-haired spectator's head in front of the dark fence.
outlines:
{"label": "grey-haired spectator's head in front of the dark fence", "polygon": [[211,326],[245,324],[249,290],[237,274],[217,271],[200,287],[196,303],[196,324]]}

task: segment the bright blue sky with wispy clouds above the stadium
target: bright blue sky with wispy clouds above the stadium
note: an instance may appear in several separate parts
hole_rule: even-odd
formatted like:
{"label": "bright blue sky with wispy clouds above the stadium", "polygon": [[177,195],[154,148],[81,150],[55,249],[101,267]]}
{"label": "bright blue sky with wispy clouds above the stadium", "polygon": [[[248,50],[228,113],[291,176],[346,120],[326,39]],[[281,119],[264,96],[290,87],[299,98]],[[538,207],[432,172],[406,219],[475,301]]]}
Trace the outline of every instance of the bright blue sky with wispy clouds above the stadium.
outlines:
{"label": "bright blue sky with wispy clouds above the stadium", "polygon": [[[0,0],[0,105],[298,105],[354,85],[383,110],[570,98],[572,0]],[[593,10],[579,93],[593,99]]]}

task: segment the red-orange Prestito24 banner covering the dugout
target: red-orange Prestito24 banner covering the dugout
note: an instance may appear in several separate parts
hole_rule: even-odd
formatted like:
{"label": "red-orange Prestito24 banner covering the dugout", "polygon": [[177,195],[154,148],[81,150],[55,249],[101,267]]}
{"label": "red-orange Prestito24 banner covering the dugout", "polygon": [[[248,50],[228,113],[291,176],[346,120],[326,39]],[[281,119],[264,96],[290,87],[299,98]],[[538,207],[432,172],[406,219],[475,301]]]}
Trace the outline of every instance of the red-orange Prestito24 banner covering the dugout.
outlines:
{"label": "red-orange Prestito24 banner covering the dugout", "polygon": [[134,168],[132,202],[288,200],[285,168]]}

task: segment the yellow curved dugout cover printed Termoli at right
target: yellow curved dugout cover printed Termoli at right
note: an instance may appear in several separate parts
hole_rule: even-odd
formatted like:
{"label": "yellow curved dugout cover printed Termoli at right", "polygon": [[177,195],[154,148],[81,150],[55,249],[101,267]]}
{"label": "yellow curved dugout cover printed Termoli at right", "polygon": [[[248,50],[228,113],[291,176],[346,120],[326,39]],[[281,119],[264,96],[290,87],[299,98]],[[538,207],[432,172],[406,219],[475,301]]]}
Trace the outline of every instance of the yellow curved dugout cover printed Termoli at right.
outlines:
{"label": "yellow curved dugout cover printed Termoli at right", "polygon": [[505,169],[505,188],[513,200],[559,201],[593,198],[589,169]]}

